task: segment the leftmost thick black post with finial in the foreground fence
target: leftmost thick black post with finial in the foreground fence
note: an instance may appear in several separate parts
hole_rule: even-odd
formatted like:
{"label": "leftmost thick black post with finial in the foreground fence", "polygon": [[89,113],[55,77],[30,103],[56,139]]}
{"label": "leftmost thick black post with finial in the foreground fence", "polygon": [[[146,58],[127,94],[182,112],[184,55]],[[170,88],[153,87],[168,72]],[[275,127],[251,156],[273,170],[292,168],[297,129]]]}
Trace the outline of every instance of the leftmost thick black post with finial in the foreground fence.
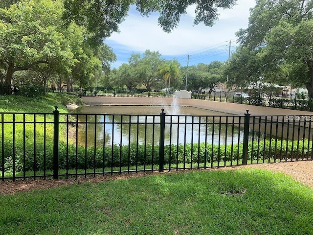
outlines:
{"label": "leftmost thick black post with finial in the foreground fence", "polygon": [[53,179],[59,179],[59,111],[53,111]]}

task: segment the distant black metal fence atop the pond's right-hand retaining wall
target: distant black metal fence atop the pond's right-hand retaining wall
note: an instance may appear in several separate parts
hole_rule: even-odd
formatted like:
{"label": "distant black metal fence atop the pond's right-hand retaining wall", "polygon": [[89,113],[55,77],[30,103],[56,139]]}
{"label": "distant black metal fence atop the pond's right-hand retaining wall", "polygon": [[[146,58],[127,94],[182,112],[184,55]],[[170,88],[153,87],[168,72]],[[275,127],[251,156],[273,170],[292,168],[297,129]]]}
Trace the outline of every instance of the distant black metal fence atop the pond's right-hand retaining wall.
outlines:
{"label": "distant black metal fence atop the pond's right-hand retaining wall", "polygon": [[197,92],[192,97],[220,102],[268,106],[273,108],[313,111],[313,94],[251,94],[245,92]]}

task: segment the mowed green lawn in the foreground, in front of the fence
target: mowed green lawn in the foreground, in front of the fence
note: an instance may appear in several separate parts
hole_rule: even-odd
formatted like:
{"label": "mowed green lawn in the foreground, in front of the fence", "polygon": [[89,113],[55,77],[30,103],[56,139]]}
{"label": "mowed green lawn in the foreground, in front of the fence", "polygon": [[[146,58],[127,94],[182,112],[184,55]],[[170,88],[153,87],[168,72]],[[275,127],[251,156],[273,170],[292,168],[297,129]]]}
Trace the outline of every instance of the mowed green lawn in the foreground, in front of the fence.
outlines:
{"label": "mowed green lawn in the foreground, in front of the fence", "polygon": [[312,234],[313,189],[261,169],[196,170],[0,195],[1,234]]}

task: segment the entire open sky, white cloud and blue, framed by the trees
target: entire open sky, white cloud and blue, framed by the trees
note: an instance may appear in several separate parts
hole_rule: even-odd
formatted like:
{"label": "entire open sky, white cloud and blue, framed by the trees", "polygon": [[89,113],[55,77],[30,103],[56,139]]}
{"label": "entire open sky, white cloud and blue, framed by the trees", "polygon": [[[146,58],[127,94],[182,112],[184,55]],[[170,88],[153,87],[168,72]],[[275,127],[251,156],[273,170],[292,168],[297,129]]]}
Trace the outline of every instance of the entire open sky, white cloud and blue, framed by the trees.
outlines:
{"label": "entire open sky, white cloud and blue, framed by the trees", "polygon": [[225,62],[229,51],[231,55],[236,50],[235,33],[240,28],[247,28],[249,9],[254,6],[254,0],[238,0],[232,9],[220,9],[219,20],[213,27],[202,23],[193,25],[195,6],[190,6],[171,33],[158,26],[157,14],[142,17],[135,7],[131,7],[128,17],[119,26],[120,32],[105,40],[117,57],[111,68],[128,63],[133,52],[142,55],[147,49],[160,52],[161,58],[176,59],[182,66],[187,66],[188,55],[189,66]]}

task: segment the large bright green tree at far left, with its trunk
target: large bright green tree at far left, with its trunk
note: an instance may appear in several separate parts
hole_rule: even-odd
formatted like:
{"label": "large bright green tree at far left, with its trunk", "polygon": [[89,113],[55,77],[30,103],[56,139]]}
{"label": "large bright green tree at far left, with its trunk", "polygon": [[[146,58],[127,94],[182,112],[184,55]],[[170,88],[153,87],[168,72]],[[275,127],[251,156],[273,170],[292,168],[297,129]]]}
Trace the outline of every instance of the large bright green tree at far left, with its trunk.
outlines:
{"label": "large bright green tree at far left, with its trunk", "polygon": [[71,44],[82,40],[75,24],[64,29],[61,0],[22,0],[0,9],[0,84],[11,85],[16,71],[45,63],[70,71],[77,62]]}

